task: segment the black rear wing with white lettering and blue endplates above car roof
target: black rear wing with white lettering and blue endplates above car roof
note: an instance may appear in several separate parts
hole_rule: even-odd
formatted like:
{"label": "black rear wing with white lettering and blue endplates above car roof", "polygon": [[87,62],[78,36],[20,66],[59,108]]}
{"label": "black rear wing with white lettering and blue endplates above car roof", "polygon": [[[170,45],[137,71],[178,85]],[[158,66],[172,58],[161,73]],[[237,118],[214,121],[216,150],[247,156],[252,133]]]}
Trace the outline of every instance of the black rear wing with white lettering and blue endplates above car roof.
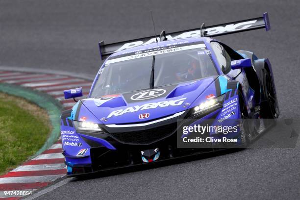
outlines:
{"label": "black rear wing with white lettering and blue endplates above car roof", "polygon": [[271,27],[268,12],[264,13],[262,17],[258,18],[230,22],[221,25],[204,26],[204,24],[202,24],[200,28],[177,31],[174,33],[169,33],[168,35],[166,35],[165,31],[163,30],[160,35],[156,35],[155,37],[144,37],[124,42],[111,43],[107,45],[104,44],[103,41],[101,41],[99,43],[100,56],[103,60],[114,52],[155,43],[157,41],[175,40],[189,37],[215,37],[219,35],[226,35],[259,28],[266,28],[266,31],[270,30]]}

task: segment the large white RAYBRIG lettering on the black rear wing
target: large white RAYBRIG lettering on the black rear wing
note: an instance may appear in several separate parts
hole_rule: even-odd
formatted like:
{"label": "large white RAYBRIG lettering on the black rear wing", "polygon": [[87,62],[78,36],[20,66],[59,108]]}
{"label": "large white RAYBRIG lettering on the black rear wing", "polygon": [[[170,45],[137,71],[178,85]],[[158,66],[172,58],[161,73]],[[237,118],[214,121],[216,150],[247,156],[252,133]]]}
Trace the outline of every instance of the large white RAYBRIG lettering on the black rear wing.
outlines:
{"label": "large white RAYBRIG lettering on the black rear wing", "polygon": [[[219,33],[224,33],[224,32],[231,32],[231,31],[236,31],[236,30],[243,30],[249,28],[251,25],[254,25],[257,22],[257,20],[251,20],[247,22],[240,22],[237,24],[228,24],[225,26],[215,26],[211,28],[205,28],[202,31],[207,31],[207,36],[214,35],[214,34],[219,34]],[[201,31],[199,30],[193,30],[193,31],[188,31],[188,32],[183,32],[179,35],[166,35],[166,38],[168,40],[175,40],[175,39],[180,39],[180,38],[189,38],[189,37],[201,37]],[[133,47],[138,47],[141,45],[148,45],[151,43],[155,43],[156,39],[160,41],[160,38],[151,38],[148,41],[134,41],[134,42],[129,42],[125,43],[121,48],[116,50],[115,52],[121,51],[121,50],[126,50],[130,49]]]}

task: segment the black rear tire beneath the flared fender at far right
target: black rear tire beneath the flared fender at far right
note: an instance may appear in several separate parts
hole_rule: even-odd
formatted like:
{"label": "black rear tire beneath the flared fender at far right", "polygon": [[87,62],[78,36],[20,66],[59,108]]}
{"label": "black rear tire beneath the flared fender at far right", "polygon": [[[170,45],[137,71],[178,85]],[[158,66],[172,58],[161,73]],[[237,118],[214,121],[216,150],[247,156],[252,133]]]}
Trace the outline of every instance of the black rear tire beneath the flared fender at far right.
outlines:
{"label": "black rear tire beneath the flared fender at far right", "polygon": [[262,103],[261,116],[265,119],[275,119],[279,116],[278,102],[275,95],[274,82],[267,70],[263,71],[263,90],[265,101]]}

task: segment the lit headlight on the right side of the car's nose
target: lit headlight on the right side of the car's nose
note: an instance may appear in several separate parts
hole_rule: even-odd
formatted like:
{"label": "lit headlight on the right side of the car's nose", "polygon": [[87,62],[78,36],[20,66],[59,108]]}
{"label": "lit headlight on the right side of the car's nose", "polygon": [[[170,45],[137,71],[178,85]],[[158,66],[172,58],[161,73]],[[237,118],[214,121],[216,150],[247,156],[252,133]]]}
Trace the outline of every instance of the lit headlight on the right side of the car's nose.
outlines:
{"label": "lit headlight on the right side of the car's nose", "polygon": [[205,111],[220,108],[222,107],[223,101],[224,101],[224,95],[221,95],[211,100],[203,101],[199,105],[191,109],[190,117],[196,117]]}

